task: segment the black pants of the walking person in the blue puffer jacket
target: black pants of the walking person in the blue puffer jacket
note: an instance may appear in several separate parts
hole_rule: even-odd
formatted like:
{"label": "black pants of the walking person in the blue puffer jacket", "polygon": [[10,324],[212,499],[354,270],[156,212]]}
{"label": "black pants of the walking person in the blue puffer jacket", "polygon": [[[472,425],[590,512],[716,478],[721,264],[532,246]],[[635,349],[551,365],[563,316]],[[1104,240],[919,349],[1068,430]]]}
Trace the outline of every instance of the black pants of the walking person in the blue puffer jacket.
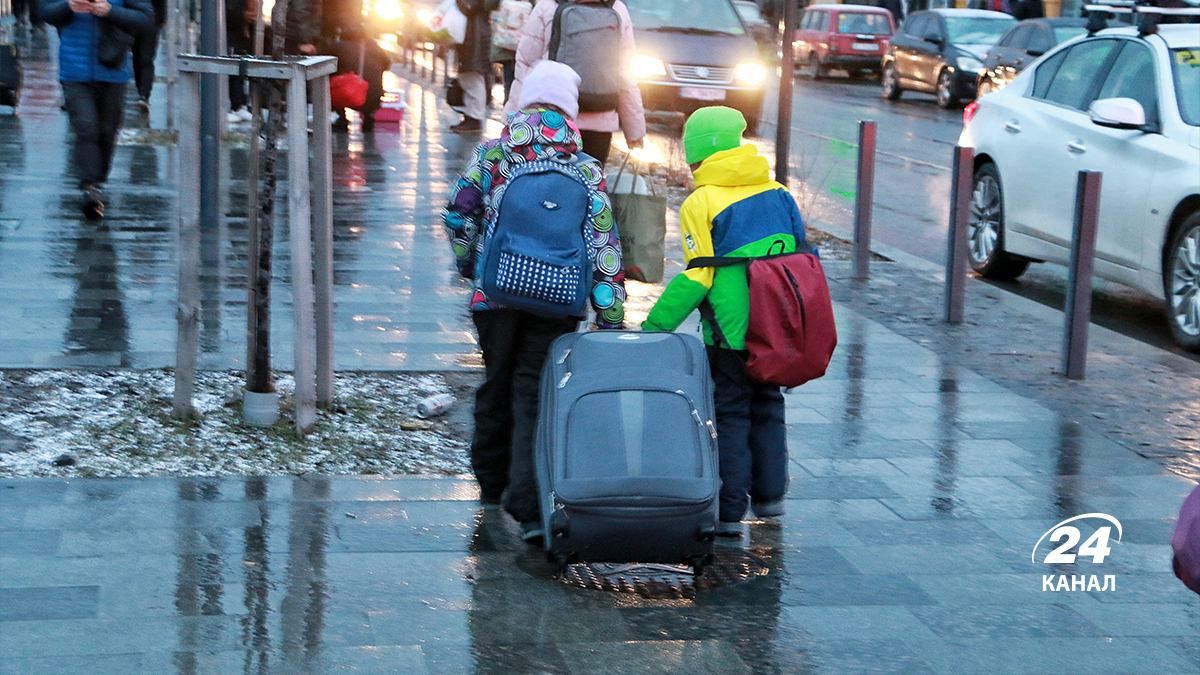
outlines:
{"label": "black pants of the walking person in the blue puffer jacket", "polygon": [[74,132],[76,175],[80,185],[100,185],[113,168],[116,132],[125,114],[125,84],[64,82],[62,95]]}

